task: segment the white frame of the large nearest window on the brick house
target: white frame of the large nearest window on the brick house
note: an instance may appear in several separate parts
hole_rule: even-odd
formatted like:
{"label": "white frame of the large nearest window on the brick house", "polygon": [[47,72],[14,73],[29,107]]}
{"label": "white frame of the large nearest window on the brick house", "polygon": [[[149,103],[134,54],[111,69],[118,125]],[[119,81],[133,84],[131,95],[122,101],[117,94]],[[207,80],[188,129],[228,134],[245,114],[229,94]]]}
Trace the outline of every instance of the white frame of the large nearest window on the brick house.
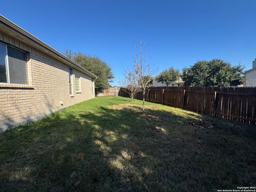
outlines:
{"label": "white frame of the large nearest window on the brick house", "polygon": [[[6,83],[0,82],[0,84],[8,84],[8,85],[29,85],[29,78],[28,78],[28,53],[26,51],[23,51],[17,47],[7,45],[6,43],[0,42],[0,44],[5,45],[5,69],[6,69]],[[8,60],[8,46],[12,47],[13,49],[17,49],[18,51],[21,51],[23,53],[26,53],[26,71],[27,71],[27,84],[18,84],[18,83],[10,83],[10,74],[9,74],[9,60]]]}

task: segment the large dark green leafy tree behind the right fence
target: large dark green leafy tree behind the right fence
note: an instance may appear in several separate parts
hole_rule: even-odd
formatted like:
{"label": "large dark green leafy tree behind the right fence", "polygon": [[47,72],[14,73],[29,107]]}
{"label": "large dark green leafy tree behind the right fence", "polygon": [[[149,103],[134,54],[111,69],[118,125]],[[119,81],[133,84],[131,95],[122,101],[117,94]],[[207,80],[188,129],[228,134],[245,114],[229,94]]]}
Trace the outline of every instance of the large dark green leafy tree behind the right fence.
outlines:
{"label": "large dark green leafy tree behind the right fence", "polygon": [[221,59],[197,61],[183,68],[181,78],[185,86],[237,86],[243,81],[243,67],[231,66]]}

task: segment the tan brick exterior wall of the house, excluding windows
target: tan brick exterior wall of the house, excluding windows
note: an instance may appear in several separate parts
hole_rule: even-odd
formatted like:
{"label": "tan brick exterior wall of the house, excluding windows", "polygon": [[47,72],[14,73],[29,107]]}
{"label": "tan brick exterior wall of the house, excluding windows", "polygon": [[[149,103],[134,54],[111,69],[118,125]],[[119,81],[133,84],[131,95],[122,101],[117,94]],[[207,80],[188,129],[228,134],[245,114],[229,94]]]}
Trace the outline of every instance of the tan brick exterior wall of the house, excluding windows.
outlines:
{"label": "tan brick exterior wall of the house, excluding windows", "polygon": [[[73,68],[73,96],[70,96],[69,66],[1,31],[0,41],[29,52],[29,85],[0,83],[0,132],[95,97],[92,77]],[[81,93],[75,92],[75,75],[81,77]]]}

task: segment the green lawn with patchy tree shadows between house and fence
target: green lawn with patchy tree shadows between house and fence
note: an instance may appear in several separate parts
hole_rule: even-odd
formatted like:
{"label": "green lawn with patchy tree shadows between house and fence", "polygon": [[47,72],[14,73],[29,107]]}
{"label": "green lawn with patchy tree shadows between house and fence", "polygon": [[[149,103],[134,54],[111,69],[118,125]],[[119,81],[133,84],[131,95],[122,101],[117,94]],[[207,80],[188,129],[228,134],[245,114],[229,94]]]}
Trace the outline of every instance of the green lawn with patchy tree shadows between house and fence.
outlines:
{"label": "green lawn with patchy tree shadows between house and fence", "polygon": [[215,191],[255,186],[255,127],[99,97],[0,135],[0,191]]}

